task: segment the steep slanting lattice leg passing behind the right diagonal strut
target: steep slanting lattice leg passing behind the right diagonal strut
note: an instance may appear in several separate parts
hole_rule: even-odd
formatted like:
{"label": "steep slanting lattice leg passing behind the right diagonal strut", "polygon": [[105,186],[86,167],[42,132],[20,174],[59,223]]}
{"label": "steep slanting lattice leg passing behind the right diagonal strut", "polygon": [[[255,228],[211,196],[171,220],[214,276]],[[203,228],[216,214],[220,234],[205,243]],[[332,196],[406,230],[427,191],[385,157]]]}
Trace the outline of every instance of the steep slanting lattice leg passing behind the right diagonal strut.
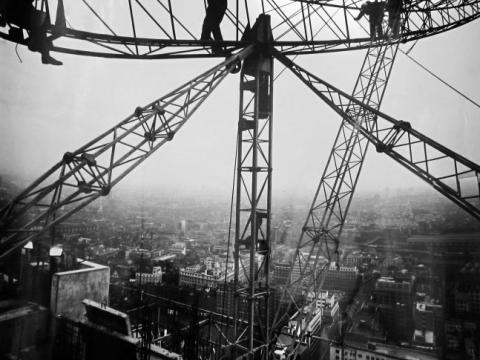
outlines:
{"label": "steep slanting lattice leg passing behind the right diagonal strut", "polygon": [[[368,49],[352,92],[354,98],[375,109],[380,108],[397,49],[398,43]],[[353,103],[350,106],[352,109],[358,107]],[[361,112],[355,111],[355,113],[358,115],[356,122],[361,123],[363,121]],[[290,276],[283,289],[282,299],[295,298],[302,288],[308,289],[315,296],[322,288],[325,274],[321,274],[321,272],[329,267],[332,260],[338,262],[341,231],[367,147],[368,142],[357,129],[342,120],[304,223],[295,251],[294,262],[290,268]],[[319,257],[327,260],[327,264],[320,270],[318,267]],[[296,279],[292,278],[295,267],[298,271]],[[294,310],[299,310],[305,305],[304,301],[295,304],[297,307]],[[274,326],[282,323],[285,316],[287,316],[286,313],[277,311],[273,322]],[[312,311],[307,316],[307,323],[311,317]],[[298,340],[301,341],[304,336],[305,334],[301,333]]]}

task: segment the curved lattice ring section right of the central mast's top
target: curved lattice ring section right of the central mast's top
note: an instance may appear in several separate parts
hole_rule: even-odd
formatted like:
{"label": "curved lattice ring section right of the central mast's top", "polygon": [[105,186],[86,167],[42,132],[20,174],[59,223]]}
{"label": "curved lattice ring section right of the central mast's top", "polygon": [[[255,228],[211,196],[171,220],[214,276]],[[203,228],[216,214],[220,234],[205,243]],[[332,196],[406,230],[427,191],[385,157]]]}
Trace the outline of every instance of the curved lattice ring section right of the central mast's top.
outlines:
{"label": "curved lattice ring section right of the central mast's top", "polygon": [[[289,15],[277,5],[276,0],[267,1],[271,11],[279,14],[280,20],[273,24],[275,46],[285,55],[345,51],[371,46],[370,38],[360,36],[363,34],[363,24],[368,24],[368,21],[362,23],[354,20],[361,1],[295,1],[296,6],[288,7]],[[432,36],[479,16],[480,3],[477,1],[413,1],[404,4],[401,20],[403,25],[398,41],[407,42]],[[321,25],[327,26],[322,30],[320,38],[318,28]],[[389,30],[386,21],[383,29],[385,32]],[[380,46],[392,40],[396,41],[386,37],[375,41],[375,44]]]}

